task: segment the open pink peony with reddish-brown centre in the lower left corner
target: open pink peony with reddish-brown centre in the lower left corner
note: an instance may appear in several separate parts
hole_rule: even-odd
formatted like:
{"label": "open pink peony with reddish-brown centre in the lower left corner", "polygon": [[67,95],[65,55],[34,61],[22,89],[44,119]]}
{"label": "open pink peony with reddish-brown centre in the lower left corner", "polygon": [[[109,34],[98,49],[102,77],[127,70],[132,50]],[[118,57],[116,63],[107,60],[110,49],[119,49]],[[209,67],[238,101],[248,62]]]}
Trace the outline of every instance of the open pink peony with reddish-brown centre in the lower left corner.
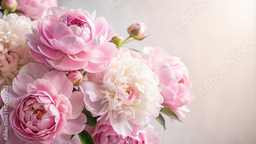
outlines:
{"label": "open pink peony with reddish-brown centre in the lower left corner", "polygon": [[[20,69],[8,89],[8,105],[13,109],[8,109],[13,129],[8,142],[68,143],[70,136],[80,133],[87,122],[81,113],[83,94],[72,90],[73,84],[62,71],[49,71],[37,63]],[[2,99],[3,95],[2,90]]]}

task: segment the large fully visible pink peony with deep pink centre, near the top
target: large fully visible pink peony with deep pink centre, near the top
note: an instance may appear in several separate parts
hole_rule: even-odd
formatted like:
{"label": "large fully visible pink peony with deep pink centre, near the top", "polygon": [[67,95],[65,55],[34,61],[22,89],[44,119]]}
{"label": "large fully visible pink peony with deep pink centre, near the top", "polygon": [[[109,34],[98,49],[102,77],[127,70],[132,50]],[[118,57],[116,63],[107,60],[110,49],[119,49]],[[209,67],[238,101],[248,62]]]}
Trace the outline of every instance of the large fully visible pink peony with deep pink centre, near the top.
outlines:
{"label": "large fully visible pink peony with deep pink centre, near the top", "polygon": [[116,53],[114,29],[105,18],[67,7],[49,8],[32,22],[26,35],[30,53],[41,63],[63,71],[84,69],[96,73]]}

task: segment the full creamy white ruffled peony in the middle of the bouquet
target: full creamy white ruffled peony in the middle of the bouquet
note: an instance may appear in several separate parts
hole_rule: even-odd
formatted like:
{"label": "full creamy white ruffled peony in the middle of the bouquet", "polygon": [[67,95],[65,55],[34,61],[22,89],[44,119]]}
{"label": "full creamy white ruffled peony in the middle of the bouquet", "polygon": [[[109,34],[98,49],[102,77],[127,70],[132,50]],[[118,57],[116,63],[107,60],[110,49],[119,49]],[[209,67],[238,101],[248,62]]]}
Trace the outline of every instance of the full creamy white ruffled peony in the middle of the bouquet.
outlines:
{"label": "full creamy white ruffled peony in the middle of the bouquet", "polygon": [[[93,116],[106,116],[113,129],[128,136],[134,127],[146,127],[159,115],[163,98],[159,79],[146,63],[120,48],[101,73],[87,73],[79,85],[84,103]],[[100,117],[100,118],[102,118]],[[100,119],[99,118],[99,119]]]}

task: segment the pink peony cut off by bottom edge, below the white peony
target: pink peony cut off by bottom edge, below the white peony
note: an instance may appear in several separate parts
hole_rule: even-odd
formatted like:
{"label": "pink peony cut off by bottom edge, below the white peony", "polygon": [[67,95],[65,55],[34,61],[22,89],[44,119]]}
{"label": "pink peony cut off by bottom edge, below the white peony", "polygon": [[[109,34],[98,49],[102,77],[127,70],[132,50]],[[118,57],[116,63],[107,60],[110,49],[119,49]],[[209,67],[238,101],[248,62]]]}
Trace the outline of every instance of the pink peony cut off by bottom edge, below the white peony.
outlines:
{"label": "pink peony cut off by bottom edge, below the white peony", "polygon": [[128,136],[123,136],[115,132],[109,121],[101,119],[96,128],[86,126],[87,130],[93,137],[97,144],[123,144],[123,143],[137,143],[137,144],[160,144],[161,138],[157,132],[154,131],[152,125],[148,125],[144,130],[136,131],[136,127]]}

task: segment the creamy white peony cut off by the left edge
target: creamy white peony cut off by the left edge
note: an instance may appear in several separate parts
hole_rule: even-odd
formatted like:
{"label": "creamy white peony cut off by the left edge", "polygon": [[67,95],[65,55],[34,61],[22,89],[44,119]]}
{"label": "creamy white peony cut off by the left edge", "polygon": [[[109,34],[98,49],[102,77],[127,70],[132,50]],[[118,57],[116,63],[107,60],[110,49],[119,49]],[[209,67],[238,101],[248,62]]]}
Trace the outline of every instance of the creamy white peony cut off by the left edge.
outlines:
{"label": "creamy white peony cut off by the left edge", "polygon": [[12,83],[20,68],[33,61],[25,34],[31,32],[31,19],[11,13],[0,19],[0,87]]}

